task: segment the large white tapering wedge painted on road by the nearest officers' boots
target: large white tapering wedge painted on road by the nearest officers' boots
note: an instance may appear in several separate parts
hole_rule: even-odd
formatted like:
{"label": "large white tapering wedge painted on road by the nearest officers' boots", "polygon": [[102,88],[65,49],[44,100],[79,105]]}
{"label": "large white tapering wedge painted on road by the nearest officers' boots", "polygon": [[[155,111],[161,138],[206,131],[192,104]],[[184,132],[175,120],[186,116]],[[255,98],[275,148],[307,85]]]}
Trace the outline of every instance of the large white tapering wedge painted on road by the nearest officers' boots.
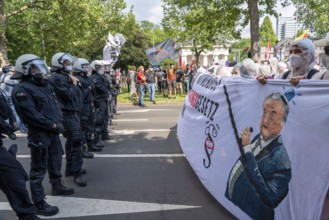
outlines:
{"label": "large white tapering wedge painted on road by the nearest officers' boots", "polygon": [[[130,202],[78,197],[47,196],[47,203],[56,205],[59,213],[47,219],[73,218],[83,216],[156,212],[177,209],[195,209],[201,206]],[[0,210],[12,210],[8,202],[0,202]]]}

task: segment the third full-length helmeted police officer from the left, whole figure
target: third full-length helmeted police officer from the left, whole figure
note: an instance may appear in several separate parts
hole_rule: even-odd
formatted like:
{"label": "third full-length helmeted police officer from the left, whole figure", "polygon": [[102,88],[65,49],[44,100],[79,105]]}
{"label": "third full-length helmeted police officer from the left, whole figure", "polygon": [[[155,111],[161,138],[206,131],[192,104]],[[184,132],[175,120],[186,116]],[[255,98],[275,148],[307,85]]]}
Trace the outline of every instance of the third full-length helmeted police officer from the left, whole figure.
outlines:
{"label": "third full-length helmeted police officer from the left, whole figure", "polygon": [[[94,95],[93,92],[95,90],[94,85],[88,77],[89,72],[89,62],[84,58],[78,58],[73,62],[73,72],[75,76],[79,79],[82,93],[83,93],[83,106],[81,111],[81,128],[83,132],[84,142],[87,143],[88,151],[97,152],[101,151],[102,148],[97,147],[94,144],[93,133],[94,133],[94,109],[93,109],[93,101]],[[92,158],[93,154],[86,152],[83,150],[83,156],[85,158]],[[90,156],[90,154],[92,156]]]}

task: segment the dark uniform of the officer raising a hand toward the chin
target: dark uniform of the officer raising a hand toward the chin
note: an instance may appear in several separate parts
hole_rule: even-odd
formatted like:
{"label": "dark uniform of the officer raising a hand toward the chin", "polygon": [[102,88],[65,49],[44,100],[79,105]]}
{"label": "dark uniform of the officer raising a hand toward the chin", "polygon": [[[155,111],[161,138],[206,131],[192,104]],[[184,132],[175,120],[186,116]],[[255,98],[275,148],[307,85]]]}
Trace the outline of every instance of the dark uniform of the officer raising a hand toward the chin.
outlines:
{"label": "dark uniform of the officer raising a hand toward the chin", "polygon": [[[83,94],[79,86],[74,85],[69,76],[61,73],[60,70],[54,72],[49,81],[53,86],[60,108],[63,112],[63,135],[66,138],[66,176],[74,176],[74,180],[81,176],[82,169],[82,131],[80,126],[80,111],[83,103]],[[84,183],[77,183],[85,186]]]}

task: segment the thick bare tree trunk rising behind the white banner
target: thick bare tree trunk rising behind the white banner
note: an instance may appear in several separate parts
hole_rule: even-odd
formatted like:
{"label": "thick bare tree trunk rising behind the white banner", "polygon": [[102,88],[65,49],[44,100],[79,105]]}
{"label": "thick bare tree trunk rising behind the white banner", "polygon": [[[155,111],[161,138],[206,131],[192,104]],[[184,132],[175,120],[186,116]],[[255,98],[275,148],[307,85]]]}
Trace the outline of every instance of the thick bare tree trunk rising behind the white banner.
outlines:
{"label": "thick bare tree trunk rising behind the white banner", "polygon": [[260,34],[258,0],[248,0],[250,16],[251,58],[260,63]]}

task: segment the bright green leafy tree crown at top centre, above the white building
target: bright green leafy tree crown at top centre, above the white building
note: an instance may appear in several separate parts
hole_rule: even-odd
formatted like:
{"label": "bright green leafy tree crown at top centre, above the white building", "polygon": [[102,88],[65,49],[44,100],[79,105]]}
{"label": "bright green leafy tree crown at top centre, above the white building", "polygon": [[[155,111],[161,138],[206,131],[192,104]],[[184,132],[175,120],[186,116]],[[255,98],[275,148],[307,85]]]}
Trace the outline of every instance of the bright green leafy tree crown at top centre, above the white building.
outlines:
{"label": "bright green leafy tree crown at top centre, above the white building", "polygon": [[235,27],[239,24],[241,14],[234,4],[216,0],[163,2],[164,31],[175,41],[192,45],[197,63],[200,54],[216,43],[240,36],[240,31]]}

